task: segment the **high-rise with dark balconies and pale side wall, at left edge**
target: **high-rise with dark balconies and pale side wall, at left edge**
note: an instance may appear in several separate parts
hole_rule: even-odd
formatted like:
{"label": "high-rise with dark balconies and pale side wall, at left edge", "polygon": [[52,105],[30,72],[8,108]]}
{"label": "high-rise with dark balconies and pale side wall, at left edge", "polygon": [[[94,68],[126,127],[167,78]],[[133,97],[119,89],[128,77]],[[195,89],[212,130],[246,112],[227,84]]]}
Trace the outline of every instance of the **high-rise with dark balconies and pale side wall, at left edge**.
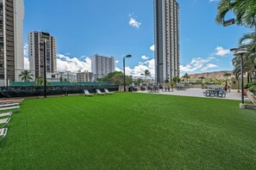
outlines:
{"label": "high-rise with dark balconies and pale side wall, at left edge", "polygon": [[0,82],[19,80],[24,69],[23,0],[0,0]]}

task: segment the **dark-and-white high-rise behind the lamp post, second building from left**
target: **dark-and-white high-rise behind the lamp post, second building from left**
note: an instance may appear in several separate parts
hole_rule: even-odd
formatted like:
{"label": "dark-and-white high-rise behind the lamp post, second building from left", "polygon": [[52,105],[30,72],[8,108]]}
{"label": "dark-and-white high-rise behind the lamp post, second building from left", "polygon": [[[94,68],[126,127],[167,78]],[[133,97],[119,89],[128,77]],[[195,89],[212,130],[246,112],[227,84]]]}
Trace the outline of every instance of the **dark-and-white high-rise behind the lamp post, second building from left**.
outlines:
{"label": "dark-and-white high-rise behind the lamp post, second building from left", "polygon": [[[34,72],[34,78],[44,76],[44,40],[42,32],[34,31],[28,33],[29,69]],[[50,35],[46,45],[48,73],[53,73],[57,70],[56,44],[56,39]]]}

